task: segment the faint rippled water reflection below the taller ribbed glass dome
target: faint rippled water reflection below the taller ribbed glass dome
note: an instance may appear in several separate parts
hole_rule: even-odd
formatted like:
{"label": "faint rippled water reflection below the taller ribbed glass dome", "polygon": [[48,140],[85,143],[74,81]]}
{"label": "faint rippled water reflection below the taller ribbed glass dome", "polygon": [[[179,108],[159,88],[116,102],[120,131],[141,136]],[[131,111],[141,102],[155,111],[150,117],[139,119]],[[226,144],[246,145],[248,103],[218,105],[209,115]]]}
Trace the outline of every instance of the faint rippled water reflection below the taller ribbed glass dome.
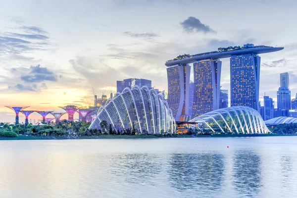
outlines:
{"label": "faint rippled water reflection below the taller ribbed glass dome", "polygon": [[126,182],[156,186],[154,177],[160,173],[159,156],[148,153],[123,153],[111,158],[109,171]]}

